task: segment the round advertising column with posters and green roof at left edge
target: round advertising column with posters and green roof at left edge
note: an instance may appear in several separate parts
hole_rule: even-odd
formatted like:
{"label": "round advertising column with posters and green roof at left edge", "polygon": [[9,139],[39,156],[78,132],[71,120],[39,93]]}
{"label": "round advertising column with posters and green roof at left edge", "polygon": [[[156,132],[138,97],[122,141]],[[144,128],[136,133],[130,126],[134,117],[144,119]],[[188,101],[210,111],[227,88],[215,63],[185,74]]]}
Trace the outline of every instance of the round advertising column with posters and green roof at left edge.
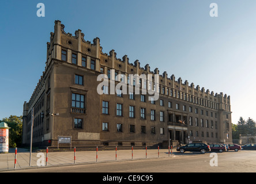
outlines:
{"label": "round advertising column with posters and green roof at left edge", "polygon": [[0,154],[9,152],[9,128],[6,122],[0,122]]}

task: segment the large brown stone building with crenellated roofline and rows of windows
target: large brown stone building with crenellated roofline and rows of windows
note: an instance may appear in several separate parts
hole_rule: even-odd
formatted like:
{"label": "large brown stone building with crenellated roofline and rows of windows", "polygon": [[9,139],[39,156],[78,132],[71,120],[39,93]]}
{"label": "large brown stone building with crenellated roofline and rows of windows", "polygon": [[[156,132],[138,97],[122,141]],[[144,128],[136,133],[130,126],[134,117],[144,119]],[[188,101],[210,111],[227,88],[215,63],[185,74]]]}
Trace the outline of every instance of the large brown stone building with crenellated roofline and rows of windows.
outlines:
{"label": "large brown stone building with crenellated roofline and rows of windows", "polygon": [[[155,87],[157,101],[150,101],[149,94],[110,94],[107,87],[100,95],[100,74],[111,81],[118,74],[125,79],[129,74],[155,76],[159,70],[141,67],[138,60],[130,63],[126,55],[118,59],[114,50],[103,53],[99,38],[85,41],[80,29],[73,36],[55,21],[45,71],[29,102],[24,102],[23,143],[30,142],[32,108],[33,143],[38,145],[57,145],[58,136],[71,136],[73,145],[155,145],[169,136],[174,145],[232,142],[226,94],[177,81],[164,72]],[[144,84],[140,80],[141,89]]]}

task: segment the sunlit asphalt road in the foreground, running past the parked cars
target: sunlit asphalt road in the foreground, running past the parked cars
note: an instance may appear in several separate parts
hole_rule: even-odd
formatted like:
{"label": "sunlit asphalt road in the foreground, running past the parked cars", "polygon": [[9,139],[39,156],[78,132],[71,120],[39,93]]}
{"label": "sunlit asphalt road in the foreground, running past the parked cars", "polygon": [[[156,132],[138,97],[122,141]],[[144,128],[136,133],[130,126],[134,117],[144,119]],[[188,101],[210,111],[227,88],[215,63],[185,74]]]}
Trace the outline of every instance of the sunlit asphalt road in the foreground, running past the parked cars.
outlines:
{"label": "sunlit asphalt road in the foreground, running past the parked cars", "polygon": [[60,167],[31,168],[11,173],[255,173],[256,151],[217,154],[185,152],[170,158],[99,162]]}

